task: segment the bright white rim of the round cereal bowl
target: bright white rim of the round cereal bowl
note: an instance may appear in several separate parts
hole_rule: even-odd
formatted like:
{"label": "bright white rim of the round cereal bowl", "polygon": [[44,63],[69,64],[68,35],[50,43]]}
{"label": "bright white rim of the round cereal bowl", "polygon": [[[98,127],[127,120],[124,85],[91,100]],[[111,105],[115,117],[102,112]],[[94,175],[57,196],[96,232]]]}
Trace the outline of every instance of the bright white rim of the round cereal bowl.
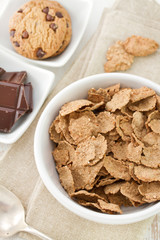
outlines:
{"label": "bright white rim of the round cereal bowl", "polygon": [[129,79],[132,79],[132,82],[135,82],[135,84],[138,81],[143,81],[143,85],[148,86],[150,88],[153,89],[159,89],[160,92],[160,86],[157,83],[154,83],[146,78],[143,77],[139,77],[137,75],[132,75],[132,74],[126,74],[126,73],[102,73],[102,74],[96,74],[93,76],[89,76],[83,79],[80,79],[72,84],[70,84],[69,86],[65,87],[63,90],[61,90],[46,106],[46,108],[44,109],[37,127],[36,127],[36,131],[35,131],[35,137],[34,137],[34,155],[35,155],[35,162],[36,162],[36,166],[38,169],[38,172],[40,174],[40,177],[42,178],[42,181],[44,183],[44,185],[46,186],[46,188],[48,189],[48,191],[57,199],[57,201],[59,201],[65,208],[67,208],[68,210],[72,211],[73,213],[75,213],[76,215],[97,222],[97,223],[102,223],[102,224],[117,224],[117,225],[122,225],[122,224],[130,224],[130,223],[135,223],[135,222],[139,222],[142,221],[144,219],[147,219],[153,215],[155,215],[156,213],[158,213],[160,211],[160,202],[155,203],[154,205],[152,205],[149,208],[146,209],[142,209],[140,212],[135,212],[135,213],[128,213],[128,214],[122,214],[122,215],[109,215],[109,214],[104,214],[104,213],[99,213],[93,210],[89,210],[81,205],[79,205],[78,203],[74,202],[72,199],[70,199],[69,197],[65,196],[56,186],[54,186],[53,182],[51,181],[51,179],[48,176],[48,173],[44,167],[44,163],[43,160],[41,159],[41,156],[39,154],[38,151],[38,140],[39,140],[39,132],[40,129],[42,129],[43,127],[43,122],[44,122],[44,118],[46,116],[46,114],[48,112],[50,112],[50,110],[52,109],[52,103],[56,101],[56,99],[58,99],[59,97],[63,96],[63,94],[65,94],[66,91],[68,91],[70,88],[72,88],[73,85],[75,86],[80,86],[82,83],[84,83],[87,80],[97,80],[97,78],[105,78],[106,81],[107,79],[109,79],[110,77],[114,77],[115,79],[117,79],[117,83],[118,83],[118,79],[120,77],[123,77],[124,81],[129,81]]}

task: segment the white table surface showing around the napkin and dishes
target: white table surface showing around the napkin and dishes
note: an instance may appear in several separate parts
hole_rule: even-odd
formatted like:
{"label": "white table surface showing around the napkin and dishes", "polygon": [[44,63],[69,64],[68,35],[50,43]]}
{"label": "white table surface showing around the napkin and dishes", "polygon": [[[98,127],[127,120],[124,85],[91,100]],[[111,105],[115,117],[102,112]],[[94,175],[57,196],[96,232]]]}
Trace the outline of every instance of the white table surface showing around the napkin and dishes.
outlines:
{"label": "white table surface showing around the napkin and dishes", "polygon": [[[72,56],[72,58],[63,67],[60,67],[60,68],[46,68],[46,69],[48,69],[50,71],[53,71],[55,73],[56,82],[58,82],[63,77],[65,72],[74,63],[74,61],[78,57],[79,53],[83,49],[83,47],[90,40],[90,38],[93,36],[94,32],[97,29],[98,23],[100,21],[103,9],[105,7],[107,7],[107,8],[112,7],[112,5],[115,2],[115,0],[91,0],[91,1],[93,1],[93,8],[92,8],[91,16],[90,16],[86,31],[84,33],[84,36],[83,36],[77,50],[75,51],[74,55]],[[160,4],[160,0],[155,0],[155,1]],[[1,11],[3,11],[3,7],[5,6],[6,2],[7,2],[6,0],[0,0],[0,6],[1,6],[0,7],[0,14],[1,14]],[[5,150],[9,147],[10,147],[9,145],[5,145],[5,144],[0,143],[0,159],[3,157],[3,153],[5,152]],[[11,237],[11,238],[8,238],[8,239],[9,240],[22,240],[21,238],[19,238],[16,235],[14,237]],[[3,238],[0,238],[0,240],[3,240]],[[138,239],[135,239],[135,240],[138,240]],[[152,226],[149,229],[146,229],[146,237],[144,238],[144,240],[160,240],[160,224],[159,224],[159,216],[158,215],[156,215]]]}

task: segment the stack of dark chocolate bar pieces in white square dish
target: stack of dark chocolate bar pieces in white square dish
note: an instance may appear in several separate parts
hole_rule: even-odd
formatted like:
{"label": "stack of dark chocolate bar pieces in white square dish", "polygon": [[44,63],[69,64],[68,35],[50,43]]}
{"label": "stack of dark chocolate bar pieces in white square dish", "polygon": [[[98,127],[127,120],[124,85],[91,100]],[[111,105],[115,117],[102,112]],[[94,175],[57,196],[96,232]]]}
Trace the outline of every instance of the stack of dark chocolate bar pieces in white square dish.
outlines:
{"label": "stack of dark chocolate bar pieces in white square dish", "polygon": [[32,85],[27,72],[6,72],[0,68],[0,132],[10,132],[15,122],[32,112]]}

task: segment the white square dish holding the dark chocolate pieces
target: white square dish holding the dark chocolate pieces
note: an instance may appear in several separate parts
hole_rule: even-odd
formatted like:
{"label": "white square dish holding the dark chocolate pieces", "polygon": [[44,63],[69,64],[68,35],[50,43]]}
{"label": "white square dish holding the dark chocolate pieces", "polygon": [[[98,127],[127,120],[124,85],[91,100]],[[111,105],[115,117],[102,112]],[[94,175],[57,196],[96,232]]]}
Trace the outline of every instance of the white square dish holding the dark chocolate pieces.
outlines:
{"label": "white square dish holding the dark chocolate pieces", "polygon": [[26,71],[27,80],[33,87],[33,111],[21,117],[9,133],[0,132],[0,142],[11,144],[17,141],[36,117],[44,100],[53,88],[54,74],[50,71],[27,64],[9,53],[0,50],[0,67],[7,72]]}

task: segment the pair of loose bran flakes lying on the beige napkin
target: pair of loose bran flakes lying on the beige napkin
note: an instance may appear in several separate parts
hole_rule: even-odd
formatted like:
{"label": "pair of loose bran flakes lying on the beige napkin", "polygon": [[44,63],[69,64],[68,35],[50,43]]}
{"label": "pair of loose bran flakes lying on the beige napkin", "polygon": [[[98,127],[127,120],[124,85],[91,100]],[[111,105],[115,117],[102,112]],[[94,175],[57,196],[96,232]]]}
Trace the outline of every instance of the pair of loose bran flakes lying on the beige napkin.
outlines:
{"label": "pair of loose bran flakes lying on the beige napkin", "polygon": [[134,57],[153,54],[158,47],[156,41],[135,35],[128,37],[124,42],[117,41],[107,51],[104,71],[108,73],[126,71],[131,67]]}

